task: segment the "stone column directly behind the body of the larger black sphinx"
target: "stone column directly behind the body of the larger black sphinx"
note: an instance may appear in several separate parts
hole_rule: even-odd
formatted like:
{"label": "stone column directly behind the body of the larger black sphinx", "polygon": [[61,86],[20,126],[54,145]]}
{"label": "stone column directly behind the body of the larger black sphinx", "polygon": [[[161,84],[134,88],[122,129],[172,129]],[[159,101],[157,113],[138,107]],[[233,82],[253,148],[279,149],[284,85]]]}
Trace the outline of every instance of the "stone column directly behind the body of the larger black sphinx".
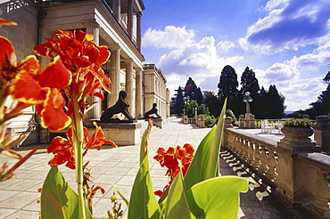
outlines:
{"label": "stone column directly behind the body of the larger black sphinx", "polygon": [[111,46],[109,77],[111,80],[111,93],[108,99],[108,107],[111,107],[116,103],[120,94],[120,47],[118,45]]}

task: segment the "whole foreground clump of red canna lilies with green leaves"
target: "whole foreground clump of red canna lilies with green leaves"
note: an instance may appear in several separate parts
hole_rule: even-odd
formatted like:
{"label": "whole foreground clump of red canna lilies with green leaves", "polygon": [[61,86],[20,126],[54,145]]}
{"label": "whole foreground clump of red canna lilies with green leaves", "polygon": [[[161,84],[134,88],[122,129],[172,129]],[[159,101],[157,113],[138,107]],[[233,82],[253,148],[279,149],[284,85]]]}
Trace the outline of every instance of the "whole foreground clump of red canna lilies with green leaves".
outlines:
{"label": "whole foreground clump of red canna lilies with green leaves", "polygon": [[[1,24],[12,23],[0,20]],[[89,131],[83,126],[86,112],[94,104],[87,97],[103,100],[102,89],[110,92],[107,86],[110,80],[100,67],[109,59],[110,52],[92,39],[92,35],[80,30],[55,32],[47,43],[33,48],[37,55],[53,60],[42,69],[35,56],[16,63],[12,44],[0,37],[4,45],[0,47],[1,97],[11,96],[13,100],[10,107],[0,100],[1,127],[10,118],[19,116],[21,110],[36,105],[43,127],[53,131],[67,128],[67,138],[55,137],[47,149],[54,157],[49,161],[52,167],[41,193],[41,218],[91,219],[95,192],[104,192],[103,188],[90,185],[88,162],[84,164],[83,159],[91,148],[100,150],[103,144],[116,147],[114,142],[104,139],[101,127],[95,124],[95,134],[88,138]],[[170,177],[164,191],[158,193],[159,200],[153,192],[149,168],[148,137],[153,126],[149,122],[141,140],[140,168],[129,201],[118,190],[128,205],[128,218],[235,218],[239,192],[247,191],[248,181],[219,175],[225,109],[226,102],[218,125],[205,136],[195,153],[189,144],[157,151],[156,158],[161,166],[169,168]],[[7,139],[2,135],[0,140],[1,150],[11,151],[8,145],[12,144],[4,144]],[[75,170],[78,193],[57,168],[62,164]],[[122,214],[120,207],[117,210],[115,218]]]}

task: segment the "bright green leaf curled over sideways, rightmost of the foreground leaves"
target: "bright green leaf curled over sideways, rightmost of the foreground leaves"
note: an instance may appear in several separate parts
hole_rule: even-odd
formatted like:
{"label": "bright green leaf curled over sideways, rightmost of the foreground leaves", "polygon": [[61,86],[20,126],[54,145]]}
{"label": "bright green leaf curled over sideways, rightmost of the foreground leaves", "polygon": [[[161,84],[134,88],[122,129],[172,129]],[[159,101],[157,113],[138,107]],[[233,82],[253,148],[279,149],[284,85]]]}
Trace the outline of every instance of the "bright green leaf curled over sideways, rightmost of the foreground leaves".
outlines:
{"label": "bright green leaf curled over sideways, rightmost of the foreground leaves", "polygon": [[239,210],[239,192],[247,190],[247,179],[221,176],[195,184],[186,192],[186,199],[197,219],[235,219]]}

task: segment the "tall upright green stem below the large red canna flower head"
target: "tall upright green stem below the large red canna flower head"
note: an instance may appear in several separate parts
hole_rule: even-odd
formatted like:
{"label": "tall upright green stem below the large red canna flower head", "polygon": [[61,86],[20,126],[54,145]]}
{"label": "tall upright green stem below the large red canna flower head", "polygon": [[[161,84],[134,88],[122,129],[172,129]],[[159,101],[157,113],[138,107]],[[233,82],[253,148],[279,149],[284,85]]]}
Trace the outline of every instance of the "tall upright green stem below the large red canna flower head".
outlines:
{"label": "tall upright green stem below the large red canna flower head", "polygon": [[72,119],[72,141],[76,166],[76,183],[78,186],[78,212],[81,219],[86,219],[86,208],[83,191],[83,156],[82,144],[84,141],[84,127],[80,116],[77,94],[72,92],[73,119]]}

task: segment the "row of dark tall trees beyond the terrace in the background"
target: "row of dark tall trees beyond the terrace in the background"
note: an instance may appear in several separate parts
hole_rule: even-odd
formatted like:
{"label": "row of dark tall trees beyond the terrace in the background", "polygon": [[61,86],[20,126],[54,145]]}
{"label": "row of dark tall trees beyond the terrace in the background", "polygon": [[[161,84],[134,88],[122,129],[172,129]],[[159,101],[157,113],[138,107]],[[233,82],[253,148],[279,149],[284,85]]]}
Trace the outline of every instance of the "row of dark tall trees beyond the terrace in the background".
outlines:
{"label": "row of dark tall trees beyond the terrace in the background", "polygon": [[[171,114],[191,114],[191,108],[198,110],[198,114],[209,114],[219,117],[223,102],[227,98],[227,109],[234,112],[235,117],[245,113],[243,96],[249,92],[252,97],[251,112],[255,118],[282,118],[285,113],[285,96],[278,93],[276,85],[269,85],[268,90],[260,87],[255,73],[246,67],[241,77],[241,87],[237,81],[235,69],[227,65],[222,69],[219,77],[218,93],[203,91],[197,87],[194,80],[189,77],[184,87],[179,86],[175,97],[171,99]],[[193,107],[187,107],[194,101]],[[196,106],[197,104],[197,106]]]}

